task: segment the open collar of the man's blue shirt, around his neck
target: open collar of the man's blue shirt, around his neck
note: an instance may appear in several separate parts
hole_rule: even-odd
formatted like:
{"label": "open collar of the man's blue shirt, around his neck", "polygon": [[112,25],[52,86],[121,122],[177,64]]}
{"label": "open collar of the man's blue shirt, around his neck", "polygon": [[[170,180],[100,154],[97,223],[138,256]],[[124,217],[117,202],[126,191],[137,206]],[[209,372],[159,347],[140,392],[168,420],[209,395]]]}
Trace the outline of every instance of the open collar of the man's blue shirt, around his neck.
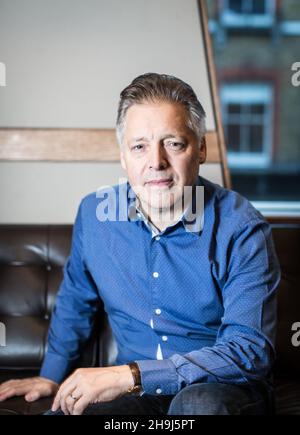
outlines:
{"label": "open collar of the man's blue shirt, around his neck", "polygon": [[[147,217],[143,213],[139,204],[139,199],[135,195],[129,183],[127,183],[127,187],[129,189],[127,196],[128,220],[132,222],[143,221],[152,231],[152,236],[156,236],[160,233],[160,231],[147,219]],[[192,200],[189,202],[188,207],[182,214],[182,217],[169,228],[177,225],[178,222],[182,222],[186,231],[191,232],[192,234],[195,234],[197,236],[201,235],[204,227],[204,186],[201,182],[200,176],[197,177],[196,183],[193,186]]]}

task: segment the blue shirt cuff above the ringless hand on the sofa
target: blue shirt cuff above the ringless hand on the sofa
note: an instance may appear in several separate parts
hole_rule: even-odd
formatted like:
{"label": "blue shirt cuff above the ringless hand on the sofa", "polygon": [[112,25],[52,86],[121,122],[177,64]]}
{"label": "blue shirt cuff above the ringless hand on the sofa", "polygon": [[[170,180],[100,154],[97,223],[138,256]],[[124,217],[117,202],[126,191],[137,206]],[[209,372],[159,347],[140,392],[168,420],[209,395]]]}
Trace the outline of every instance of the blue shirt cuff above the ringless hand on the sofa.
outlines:
{"label": "blue shirt cuff above the ringless hand on the sofa", "polygon": [[40,370],[40,376],[60,384],[70,372],[70,368],[70,361],[60,355],[47,352]]}

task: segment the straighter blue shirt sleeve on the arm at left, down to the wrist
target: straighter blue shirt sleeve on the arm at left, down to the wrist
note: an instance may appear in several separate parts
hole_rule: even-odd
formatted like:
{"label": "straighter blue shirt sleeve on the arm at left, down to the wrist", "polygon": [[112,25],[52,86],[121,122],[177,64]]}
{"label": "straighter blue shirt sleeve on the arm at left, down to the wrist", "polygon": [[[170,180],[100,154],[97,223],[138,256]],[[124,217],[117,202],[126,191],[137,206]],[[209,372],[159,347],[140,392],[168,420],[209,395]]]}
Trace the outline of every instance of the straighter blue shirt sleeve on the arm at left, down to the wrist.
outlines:
{"label": "straighter blue shirt sleeve on the arm at left, down to the wrist", "polygon": [[82,203],[72,235],[70,256],[56,298],[48,332],[47,352],[40,376],[60,383],[80,356],[91,334],[99,296],[84,261]]}

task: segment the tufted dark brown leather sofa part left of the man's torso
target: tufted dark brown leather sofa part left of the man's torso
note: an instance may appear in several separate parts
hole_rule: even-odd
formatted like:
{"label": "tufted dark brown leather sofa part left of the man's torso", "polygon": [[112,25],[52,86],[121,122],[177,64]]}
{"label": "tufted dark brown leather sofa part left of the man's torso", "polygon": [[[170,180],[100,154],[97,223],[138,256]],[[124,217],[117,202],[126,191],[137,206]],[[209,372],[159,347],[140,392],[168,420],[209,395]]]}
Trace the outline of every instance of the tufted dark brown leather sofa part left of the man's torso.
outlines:
{"label": "tufted dark brown leather sofa part left of the man's torso", "polygon": [[[6,327],[6,346],[0,347],[0,383],[39,372],[71,236],[71,225],[0,226],[0,322]],[[100,310],[77,366],[105,366],[113,363],[114,355],[110,328]],[[0,403],[0,414],[4,409],[5,413],[38,413],[49,403],[42,400],[38,406],[17,398]]]}

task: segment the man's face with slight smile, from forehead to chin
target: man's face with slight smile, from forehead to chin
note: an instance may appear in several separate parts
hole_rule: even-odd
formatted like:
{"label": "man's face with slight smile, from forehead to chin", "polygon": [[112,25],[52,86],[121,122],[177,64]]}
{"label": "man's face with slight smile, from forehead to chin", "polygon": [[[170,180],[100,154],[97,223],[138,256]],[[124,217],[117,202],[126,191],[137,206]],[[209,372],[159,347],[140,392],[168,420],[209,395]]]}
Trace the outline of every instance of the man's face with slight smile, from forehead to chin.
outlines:
{"label": "man's face with slight smile, from forehead to chin", "polygon": [[184,186],[195,183],[205,159],[205,141],[200,148],[183,105],[145,102],[128,109],[121,163],[144,207],[165,210],[181,203]]}

